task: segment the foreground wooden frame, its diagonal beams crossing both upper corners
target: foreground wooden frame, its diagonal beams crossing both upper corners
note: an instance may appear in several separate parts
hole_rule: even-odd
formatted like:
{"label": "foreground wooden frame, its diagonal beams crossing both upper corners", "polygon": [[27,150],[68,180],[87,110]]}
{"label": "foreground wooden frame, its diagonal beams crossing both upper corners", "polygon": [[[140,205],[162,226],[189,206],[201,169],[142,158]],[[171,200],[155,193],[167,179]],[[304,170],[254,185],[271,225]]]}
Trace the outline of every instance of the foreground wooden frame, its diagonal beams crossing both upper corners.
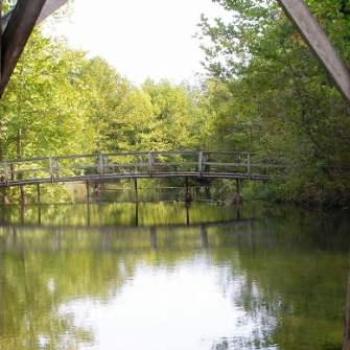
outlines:
{"label": "foreground wooden frame, its diagonal beams crossing both upper corners", "polygon": [[[0,33],[0,97],[5,91],[11,74],[35,25],[43,21],[66,2],[67,0],[18,0],[4,33],[2,35]],[[296,24],[308,45],[333,78],[338,89],[350,102],[349,70],[316,18],[308,9],[305,1],[278,0],[278,2]]]}

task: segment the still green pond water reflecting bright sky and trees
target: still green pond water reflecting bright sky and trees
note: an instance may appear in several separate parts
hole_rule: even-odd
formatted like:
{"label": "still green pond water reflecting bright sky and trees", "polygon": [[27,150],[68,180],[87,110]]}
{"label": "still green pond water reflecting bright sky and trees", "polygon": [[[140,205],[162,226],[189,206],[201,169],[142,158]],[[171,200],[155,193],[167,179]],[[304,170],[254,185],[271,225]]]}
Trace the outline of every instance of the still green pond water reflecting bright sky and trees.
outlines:
{"label": "still green pond water reflecting bright sky and trees", "polygon": [[341,349],[347,214],[2,209],[0,349]]}

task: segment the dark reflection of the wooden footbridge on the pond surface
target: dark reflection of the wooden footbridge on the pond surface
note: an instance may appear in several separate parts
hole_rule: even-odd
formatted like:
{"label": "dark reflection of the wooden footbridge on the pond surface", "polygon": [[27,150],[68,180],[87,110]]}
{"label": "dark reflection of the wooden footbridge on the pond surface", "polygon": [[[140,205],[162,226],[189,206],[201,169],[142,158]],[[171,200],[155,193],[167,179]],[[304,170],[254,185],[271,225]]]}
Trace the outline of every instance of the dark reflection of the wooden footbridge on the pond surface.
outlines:
{"label": "dark reflection of the wooden footbridge on the pond surface", "polygon": [[[110,208],[118,208],[126,206],[125,211],[131,212],[132,207],[134,214],[130,215],[126,223],[96,223],[94,222],[94,216],[96,217],[96,212],[100,211],[103,208],[108,211]],[[176,208],[174,214],[170,214],[170,218],[166,218],[160,215],[158,220],[145,222],[145,218],[140,214],[140,206],[148,207],[152,206],[153,209],[164,207],[166,210],[171,210]],[[198,243],[199,248],[209,248],[210,240],[208,237],[208,232],[210,230],[238,230],[239,232],[252,232],[252,227],[254,225],[254,218],[252,217],[241,217],[241,208],[221,208],[222,213],[218,215],[219,208],[212,207],[212,212],[209,213],[208,217],[212,218],[207,221],[198,220],[198,213],[201,212],[200,205],[196,205],[193,208],[188,205],[183,204],[140,204],[136,203],[120,203],[120,204],[91,204],[87,203],[84,205],[61,205],[55,208],[54,206],[12,206],[10,209],[2,210],[2,217],[0,218],[0,233],[2,237],[5,238],[5,241],[8,243],[15,239],[18,240],[19,235],[22,234],[31,234],[33,232],[38,234],[49,234],[52,238],[53,246],[58,248],[62,247],[60,240],[64,234],[98,234],[102,235],[101,247],[104,249],[107,248],[106,242],[108,240],[117,239],[118,236],[124,235],[142,235],[142,240],[145,240],[145,237],[149,237],[149,247],[152,249],[158,249],[159,247],[159,234],[164,238],[164,234],[171,235],[181,235],[183,232],[191,232],[191,237],[196,237],[196,244]],[[203,206],[204,207],[204,206]],[[208,208],[208,206],[206,205]],[[60,210],[64,213],[66,210],[73,209],[75,213],[79,215],[79,221],[74,223],[70,222],[69,218],[63,214],[63,220],[59,222],[51,222],[50,218],[47,216],[48,212]],[[78,210],[77,210],[78,208]],[[85,208],[85,210],[84,210]],[[169,209],[170,208],[170,209]],[[79,210],[80,209],[80,210]],[[191,211],[194,211],[194,220],[191,221]],[[43,214],[43,211],[45,212]],[[84,213],[85,211],[85,213]],[[118,211],[118,210],[117,210]],[[214,213],[216,211],[216,213]],[[225,213],[226,211],[226,213]],[[92,213],[93,212],[93,213]],[[85,218],[83,215],[85,214]],[[214,219],[213,219],[214,213]],[[28,215],[29,214],[29,215]],[[122,216],[123,213],[119,211],[119,214]],[[43,218],[44,216],[44,218]],[[61,216],[62,218],[62,216]],[[169,221],[170,219],[170,221]],[[164,221],[163,221],[164,220]],[[73,220],[74,221],[74,220]],[[83,222],[85,221],[85,223]],[[186,230],[186,231],[184,231]],[[1,235],[1,234],[0,234]],[[18,243],[18,242],[17,242]]]}

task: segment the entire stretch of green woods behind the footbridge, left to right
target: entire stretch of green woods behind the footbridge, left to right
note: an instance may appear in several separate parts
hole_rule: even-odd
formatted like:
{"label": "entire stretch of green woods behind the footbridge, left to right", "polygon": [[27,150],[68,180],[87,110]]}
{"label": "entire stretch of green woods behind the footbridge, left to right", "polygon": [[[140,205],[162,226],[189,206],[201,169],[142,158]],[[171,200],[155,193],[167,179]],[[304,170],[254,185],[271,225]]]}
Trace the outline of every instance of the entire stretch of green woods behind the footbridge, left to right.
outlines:
{"label": "entire stretch of green woods behind the footbridge, left to right", "polygon": [[[345,205],[350,108],[275,1],[215,0],[199,24],[202,86],[140,87],[35,32],[0,104],[0,159],[125,150],[250,151],[290,166],[256,196]],[[350,9],[308,1],[350,62]],[[201,40],[202,39],[202,40]],[[259,185],[260,186],[260,185]]]}

